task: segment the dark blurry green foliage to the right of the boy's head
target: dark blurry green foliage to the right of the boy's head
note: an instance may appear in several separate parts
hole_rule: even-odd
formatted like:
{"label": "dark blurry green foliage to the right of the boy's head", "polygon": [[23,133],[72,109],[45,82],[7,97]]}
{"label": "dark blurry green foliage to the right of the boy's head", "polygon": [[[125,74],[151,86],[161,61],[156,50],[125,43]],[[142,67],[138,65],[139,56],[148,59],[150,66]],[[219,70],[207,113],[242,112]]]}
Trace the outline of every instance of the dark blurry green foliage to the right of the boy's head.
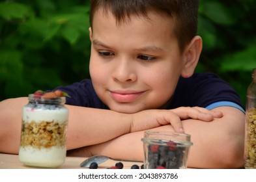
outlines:
{"label": "dark blurry green foliage to the right of the boy's head", "polygon": [[256,68],[256,1],[201,0],[198,34],[203,53],[197,72],[213,72],[230,83],[246,104]]}

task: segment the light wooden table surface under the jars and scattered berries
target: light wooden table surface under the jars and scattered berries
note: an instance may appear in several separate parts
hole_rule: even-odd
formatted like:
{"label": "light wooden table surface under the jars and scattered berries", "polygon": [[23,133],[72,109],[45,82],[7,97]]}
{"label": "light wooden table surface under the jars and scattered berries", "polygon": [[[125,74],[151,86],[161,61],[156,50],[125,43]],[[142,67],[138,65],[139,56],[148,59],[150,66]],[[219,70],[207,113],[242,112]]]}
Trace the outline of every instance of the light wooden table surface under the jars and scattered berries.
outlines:
{"label": "light wooden table surface under the jars and scattered berries", "polygon": [[[59,169],[81,169],[80,163],[83,162],[86,157],[66,157],[66,160]],[[113,161],[111,159],[103,162],[102,164],[98,165],[98,168],[109,168],[111,166],[115,166],[115,163],[119,161]],[[132,165],[137,164],[139,167],[143,164],[143,162],[124,162],[124,168],[131,168]],[[20,169],[20,168],[35,168],[30,166],[25,166],[19,161],[18,155],[0,153],[0,169]]]}

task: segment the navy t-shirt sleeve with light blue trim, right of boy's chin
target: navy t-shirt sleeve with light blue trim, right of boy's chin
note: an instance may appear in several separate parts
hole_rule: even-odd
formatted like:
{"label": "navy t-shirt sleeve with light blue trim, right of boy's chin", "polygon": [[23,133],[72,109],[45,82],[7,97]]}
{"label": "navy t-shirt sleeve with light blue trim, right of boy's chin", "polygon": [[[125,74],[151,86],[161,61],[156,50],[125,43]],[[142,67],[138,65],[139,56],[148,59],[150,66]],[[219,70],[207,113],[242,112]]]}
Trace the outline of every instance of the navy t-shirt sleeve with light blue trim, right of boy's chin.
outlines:
{"label": "navy t-shirt sleeve with light blue trim, right of boy's chin", "polygon": [[213,73],[195,73],[188,79],[180,78],[173,96],[173,107],[205,107],[214,109],[231,106],[244,112],[236,91]]}

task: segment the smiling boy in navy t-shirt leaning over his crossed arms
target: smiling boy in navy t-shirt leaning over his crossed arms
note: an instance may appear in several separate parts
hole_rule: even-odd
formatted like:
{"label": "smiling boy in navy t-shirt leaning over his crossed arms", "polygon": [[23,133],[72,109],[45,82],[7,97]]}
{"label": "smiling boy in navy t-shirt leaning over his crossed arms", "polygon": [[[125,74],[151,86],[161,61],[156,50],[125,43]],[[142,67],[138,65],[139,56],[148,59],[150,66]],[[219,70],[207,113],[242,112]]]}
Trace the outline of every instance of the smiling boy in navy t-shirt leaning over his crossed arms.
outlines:
{"label": "smiling boy in navy t-shirt leaning over his crossed arms", "polygon": [[[193,74],[197,8],[195,0],[91,0],[91,81],[56,88],[71,96],[68,155],[143,160],[141,138],[154,129],[192,135],[188,167],[244,164],[237,94],[215,75]],[[0,103],[0,151],[18,153],[26,103]]]}

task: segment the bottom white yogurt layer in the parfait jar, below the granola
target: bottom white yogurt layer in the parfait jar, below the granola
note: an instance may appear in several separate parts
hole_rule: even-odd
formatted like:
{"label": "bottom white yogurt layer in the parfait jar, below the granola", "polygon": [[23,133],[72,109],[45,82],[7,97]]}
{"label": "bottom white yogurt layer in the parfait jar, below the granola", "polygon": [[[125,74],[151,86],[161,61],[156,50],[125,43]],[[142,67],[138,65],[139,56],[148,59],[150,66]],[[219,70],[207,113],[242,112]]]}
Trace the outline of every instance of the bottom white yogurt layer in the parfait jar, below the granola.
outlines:
{"label": "bottom white yogurt layer in the parfait jar, below the granola", "polygon": [[57,168],[61,166],[66,158],[66,148],[53,146],[51,148],[35,149],[31,146],[20,147],[20,162],[27,166],[38,166],[44,168]]}

